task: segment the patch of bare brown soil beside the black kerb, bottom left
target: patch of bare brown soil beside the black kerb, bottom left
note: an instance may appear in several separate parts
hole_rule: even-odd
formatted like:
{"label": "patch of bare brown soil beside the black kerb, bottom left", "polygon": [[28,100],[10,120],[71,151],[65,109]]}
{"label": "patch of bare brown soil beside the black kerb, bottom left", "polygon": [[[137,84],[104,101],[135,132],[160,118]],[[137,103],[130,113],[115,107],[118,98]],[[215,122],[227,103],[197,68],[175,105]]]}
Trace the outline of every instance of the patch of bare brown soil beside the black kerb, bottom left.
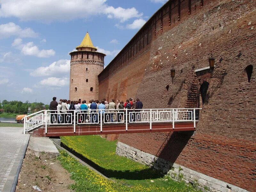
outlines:
{"label": "patch of bare brown soil beside the black kerb, bottom left", "polygon": [[41,152],[37,157],[28,149],[19,175],[16,192],[37,192],[38,186],[43,192],[72,192],[68,186],[74,183],[70,173],[65,170],[56,156]]}

